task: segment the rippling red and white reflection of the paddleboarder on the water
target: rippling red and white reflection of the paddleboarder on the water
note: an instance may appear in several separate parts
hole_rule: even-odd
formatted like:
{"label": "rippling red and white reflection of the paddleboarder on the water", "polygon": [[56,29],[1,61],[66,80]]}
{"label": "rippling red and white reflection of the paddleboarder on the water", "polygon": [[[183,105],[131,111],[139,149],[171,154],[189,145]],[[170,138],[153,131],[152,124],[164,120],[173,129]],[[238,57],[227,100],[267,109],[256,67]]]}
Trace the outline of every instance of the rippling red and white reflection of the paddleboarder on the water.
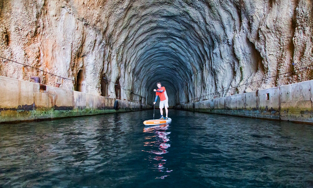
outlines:
{"label": "rippling red and white reflection of the paddleboarder on the water", "polygon": [[[144,133],[154,133],[154,136],[147,136],[145,139],[150,139],[151,141],[144,142],[144,146],[152,146],[157,147],[159,150],[145,151],[151,154],[162,155],[168,153],[167,148],[171,147],[171,144],[167,144],[170,141],[169,137],[167,137],[171,132],[165,132],[169,127],[169,124],[156,125],[151,127],[145,127],[143,129]],[[144,150],[142,150],[144,151]],[[173,170],[168,170],[165,165],[166,159],[163,159],[161,156],[148,156],[149,161],[159,161],[157,164],[153,164],[154,169],[157,169],[159,172],[172,172]],[[163,175],[161,177],[156,177],[156,179],[164,179],[169,175]]]}

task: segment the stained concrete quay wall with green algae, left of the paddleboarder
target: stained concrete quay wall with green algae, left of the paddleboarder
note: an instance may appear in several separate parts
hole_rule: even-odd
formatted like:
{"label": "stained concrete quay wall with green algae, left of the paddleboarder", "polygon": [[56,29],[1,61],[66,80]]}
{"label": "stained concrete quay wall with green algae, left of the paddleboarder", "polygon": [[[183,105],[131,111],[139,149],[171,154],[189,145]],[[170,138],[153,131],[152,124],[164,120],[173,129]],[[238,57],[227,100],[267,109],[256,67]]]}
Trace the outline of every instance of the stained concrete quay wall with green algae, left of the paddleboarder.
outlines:
{"label": "stained concrete quay wall with green algae, left of the paddleboarder", "polygon": [[0,76],[0,123],[127,112],[151,108],[148,105]]}

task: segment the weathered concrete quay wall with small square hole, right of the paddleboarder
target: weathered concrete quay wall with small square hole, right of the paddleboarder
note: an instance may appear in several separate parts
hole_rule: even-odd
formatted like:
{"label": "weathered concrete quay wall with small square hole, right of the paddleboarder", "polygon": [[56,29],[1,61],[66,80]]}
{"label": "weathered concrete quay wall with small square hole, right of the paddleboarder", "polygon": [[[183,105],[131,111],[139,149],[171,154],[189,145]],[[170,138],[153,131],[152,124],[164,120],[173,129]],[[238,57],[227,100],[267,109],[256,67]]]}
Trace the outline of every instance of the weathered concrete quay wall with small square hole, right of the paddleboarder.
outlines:
{"label": "weathered concrete quay wall with small square hole, right of the paddleboarder", "polygon": [[[313,123],[313,80],[177,106],[179,110]],[[266,100],[266,95],[269,100]]]}

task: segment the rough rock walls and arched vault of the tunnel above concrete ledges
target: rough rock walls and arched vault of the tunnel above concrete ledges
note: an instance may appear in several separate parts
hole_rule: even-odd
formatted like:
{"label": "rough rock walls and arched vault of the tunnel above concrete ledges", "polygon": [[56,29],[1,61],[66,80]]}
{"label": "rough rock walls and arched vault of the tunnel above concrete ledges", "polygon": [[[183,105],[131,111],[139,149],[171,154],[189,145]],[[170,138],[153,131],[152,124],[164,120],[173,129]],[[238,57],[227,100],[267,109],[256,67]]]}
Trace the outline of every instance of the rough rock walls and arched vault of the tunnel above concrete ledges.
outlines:
{"label": "rough rock walls and arched vault of the tunnel above concrete ledges", "polygon": [[1,58],[0,75],[73,90],[82,69],[87,93],[100,95],[105,77],[111,98],[118,84],[143,103],[161,81],[170,106],[311,80],[312,67],[297,69],[313,64],[312,4],[3,0],[0,55],[70,80]]}

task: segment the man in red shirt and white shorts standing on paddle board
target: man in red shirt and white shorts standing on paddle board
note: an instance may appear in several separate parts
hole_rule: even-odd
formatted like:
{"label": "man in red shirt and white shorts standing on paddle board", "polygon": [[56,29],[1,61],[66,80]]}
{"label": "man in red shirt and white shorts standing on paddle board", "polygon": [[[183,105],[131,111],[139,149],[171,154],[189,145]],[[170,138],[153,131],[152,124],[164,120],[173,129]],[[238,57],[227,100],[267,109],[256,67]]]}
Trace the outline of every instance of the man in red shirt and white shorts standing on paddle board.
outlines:
{"label": "man in red shirt and white shorts standing on paddle board", "polygon": [[[158,89],[154,89],[153,91],[156,92],[156,99],[153,102],[153,104],[156,103],[157,97],[160,97],[160,112],[161,112],[161,118],[160,119],[168,119],[167,114],[168,114],[168,97],[165,91],[165,87],[161,87],[161,82],[157,82],[156,86],[158,87]],[[165,113],[166,113],[166,117],[163,117],[163,107],[165,108]]]}

